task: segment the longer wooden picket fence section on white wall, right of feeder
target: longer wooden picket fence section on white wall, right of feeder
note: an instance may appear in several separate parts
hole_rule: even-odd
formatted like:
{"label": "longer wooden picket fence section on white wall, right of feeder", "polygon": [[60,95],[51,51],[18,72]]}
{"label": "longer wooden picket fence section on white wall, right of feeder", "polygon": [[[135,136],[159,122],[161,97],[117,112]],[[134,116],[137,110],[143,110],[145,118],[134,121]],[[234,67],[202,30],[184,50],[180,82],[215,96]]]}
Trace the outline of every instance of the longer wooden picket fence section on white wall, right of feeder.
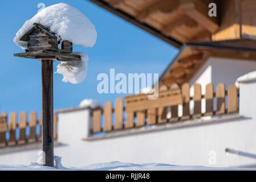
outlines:
{"label": "longer wooden picket fence section on white wall, right of feeder", "polygon": [[[201,85],[195,84],[194,94],[190,96],[190,86],[185,83],[181,88],[177,84],[170,86],[170,89],[166,86],[160,88],[157,100],[148,100],[149,94],[128,96],[125,97],[124,107],[123,99],[117,98],[114,109],[112,103],[107,102],[104,109],[92,111],[92,133],[234,113],[238,111],[238,91],[235,85],[225,90],[225,85],[220,83],[214,93],[213,84],[208,84],[203,95]],[[204,113],[202,110],[205,110]]]}

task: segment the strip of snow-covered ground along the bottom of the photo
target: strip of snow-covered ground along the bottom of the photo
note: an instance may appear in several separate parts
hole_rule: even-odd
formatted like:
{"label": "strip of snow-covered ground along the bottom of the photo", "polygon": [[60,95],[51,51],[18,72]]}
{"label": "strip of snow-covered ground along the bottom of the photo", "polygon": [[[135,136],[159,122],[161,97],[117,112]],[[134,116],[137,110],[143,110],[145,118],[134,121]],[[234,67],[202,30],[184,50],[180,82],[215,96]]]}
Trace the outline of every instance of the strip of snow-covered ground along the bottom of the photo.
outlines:
{"label": "strip of snow-covered ground along the bottom of the photo", "polygon": [[61,164],[54,167],[40,166],[38,163],[30,163],[28,165],[1,165],[0,170],[15,171],[41,171],[41,170],[83,170],[83,171],[256,171],[256,168],[220,168],[220,167],[204,167],[204,166],[176,166],[161,163],[133,164],[121,162],[96,163],[84,167],[63,167]]}

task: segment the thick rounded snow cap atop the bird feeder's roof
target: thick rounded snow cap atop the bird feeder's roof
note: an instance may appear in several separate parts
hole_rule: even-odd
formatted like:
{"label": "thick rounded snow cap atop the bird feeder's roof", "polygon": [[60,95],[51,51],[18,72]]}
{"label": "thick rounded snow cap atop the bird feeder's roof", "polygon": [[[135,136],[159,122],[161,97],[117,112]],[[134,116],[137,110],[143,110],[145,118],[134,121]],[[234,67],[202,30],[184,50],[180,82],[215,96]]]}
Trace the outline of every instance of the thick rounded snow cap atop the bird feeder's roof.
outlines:
{"label": "thick rounded snow cap atop the bird feeder's roof", "polygon": [[94,24],[78,9],[66,3],[48,6],[26,20],[14,38],[14,43],[22,49],[27,48],[27,42],[20,39],[33,27],[33,23],[42,24],[62,40],[68,40],[73,44],[92,47],[96,43],[97,32]]}

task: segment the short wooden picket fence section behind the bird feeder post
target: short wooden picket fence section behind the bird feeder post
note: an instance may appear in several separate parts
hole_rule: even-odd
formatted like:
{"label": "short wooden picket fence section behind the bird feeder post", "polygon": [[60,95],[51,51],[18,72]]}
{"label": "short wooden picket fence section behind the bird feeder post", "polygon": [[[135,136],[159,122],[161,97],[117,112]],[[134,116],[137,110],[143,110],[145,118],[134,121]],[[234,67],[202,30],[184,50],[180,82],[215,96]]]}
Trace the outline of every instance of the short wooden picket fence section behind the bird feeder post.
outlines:
{"label": "short wooden picket fence section behind the bird feeder post", "polygon": [[[15,146],[41,140],[41,115],[38,120],[36,113],[31,112],[29,122],[27,122],[27,113],[25,111],[19,114],[19,122],[17,122],[17,113],[15,112],[10,113],[9,118],[8,123],[6,113],[2,113],[0,116],[0,147]],[[57,138],[57,122],[58,117],[54,114],[54,139]]]}

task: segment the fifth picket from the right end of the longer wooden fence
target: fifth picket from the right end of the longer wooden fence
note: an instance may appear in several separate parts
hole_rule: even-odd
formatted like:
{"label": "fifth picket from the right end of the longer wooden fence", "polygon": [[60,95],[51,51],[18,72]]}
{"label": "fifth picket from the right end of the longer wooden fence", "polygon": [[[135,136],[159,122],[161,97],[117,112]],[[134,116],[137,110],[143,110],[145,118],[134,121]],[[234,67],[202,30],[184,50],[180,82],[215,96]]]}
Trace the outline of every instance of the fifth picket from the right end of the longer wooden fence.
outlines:
{"label": "fifth picket from the right end of the longer wooden fence", "polygon": [[190,101],[190,94],[189,94],[189,89],[190,86],[188,83],[184,83],[181,86],[181,90],[182,90],[182,101],[183,101],[183,106],[182,106],[182,117],[181,119],[189,119],[190,118],[190,107],[189,107],[189,101]]}

